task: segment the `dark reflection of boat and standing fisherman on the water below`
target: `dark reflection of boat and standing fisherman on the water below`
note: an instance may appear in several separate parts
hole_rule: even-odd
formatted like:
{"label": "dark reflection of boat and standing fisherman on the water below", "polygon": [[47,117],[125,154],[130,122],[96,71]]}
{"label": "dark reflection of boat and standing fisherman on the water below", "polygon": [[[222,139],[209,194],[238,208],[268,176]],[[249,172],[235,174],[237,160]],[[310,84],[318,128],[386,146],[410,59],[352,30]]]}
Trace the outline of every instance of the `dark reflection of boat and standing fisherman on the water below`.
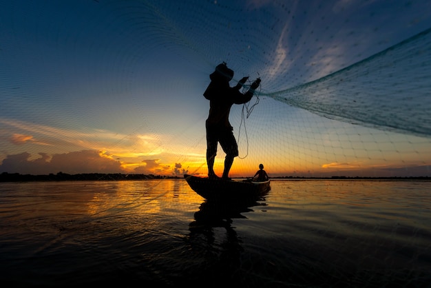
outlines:
{"label": "dark reflection of boat and standing fisherman on the water below", "polygon": [[[266,195],[266,194],[265,194]],[[235,219],[246,219],[255,207],[266,206],[264,196],[245,202],[229,199],[205,200],[189,224],[189,243],[196,259],[204,259],[199,274],[214,283],[224,280],[238,282],[243,274],[242,238],[235,231]],[[262,202],[263,201],[263,202]]]}

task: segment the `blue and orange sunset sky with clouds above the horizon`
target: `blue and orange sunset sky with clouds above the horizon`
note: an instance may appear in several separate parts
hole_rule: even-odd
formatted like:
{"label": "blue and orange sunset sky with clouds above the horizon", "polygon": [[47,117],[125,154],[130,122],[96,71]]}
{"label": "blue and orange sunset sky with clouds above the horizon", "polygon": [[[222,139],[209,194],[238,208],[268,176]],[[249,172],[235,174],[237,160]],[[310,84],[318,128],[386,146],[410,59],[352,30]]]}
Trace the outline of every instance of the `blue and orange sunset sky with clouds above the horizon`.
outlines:
{"label": "blue and orange sunset sky with clouds above the horizon", "polygon": [[429,1],[0,0],[0,173],[205,175],[224,61],[262,79],[232,177],[431,176],[430,28]]}

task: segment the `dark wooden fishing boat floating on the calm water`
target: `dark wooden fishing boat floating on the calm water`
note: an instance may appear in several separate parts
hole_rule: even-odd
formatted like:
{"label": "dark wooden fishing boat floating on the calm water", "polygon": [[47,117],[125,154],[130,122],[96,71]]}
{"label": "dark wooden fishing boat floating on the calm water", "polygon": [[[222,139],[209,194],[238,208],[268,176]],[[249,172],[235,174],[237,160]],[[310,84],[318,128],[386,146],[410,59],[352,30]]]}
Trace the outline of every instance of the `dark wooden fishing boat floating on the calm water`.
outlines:
{"label": "dark wooden fishing boat floating on the calm water", "polygon": [[267,181],[222,180],[184,175],[194,192],[207,200],[241,200],[264,196],[271,189]]}

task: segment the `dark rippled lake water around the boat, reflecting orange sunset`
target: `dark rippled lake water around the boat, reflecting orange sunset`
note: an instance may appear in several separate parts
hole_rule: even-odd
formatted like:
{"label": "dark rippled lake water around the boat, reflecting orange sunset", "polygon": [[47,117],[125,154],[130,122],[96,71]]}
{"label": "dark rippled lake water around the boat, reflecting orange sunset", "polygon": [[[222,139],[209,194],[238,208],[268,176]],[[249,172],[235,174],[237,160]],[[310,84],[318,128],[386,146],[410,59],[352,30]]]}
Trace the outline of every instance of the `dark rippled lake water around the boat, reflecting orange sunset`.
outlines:
{"label": "dark rippled lake water around the boat, reflecting orange sunset", "polygon": [[431,287],[431,182],[0,183],[2,287]]}

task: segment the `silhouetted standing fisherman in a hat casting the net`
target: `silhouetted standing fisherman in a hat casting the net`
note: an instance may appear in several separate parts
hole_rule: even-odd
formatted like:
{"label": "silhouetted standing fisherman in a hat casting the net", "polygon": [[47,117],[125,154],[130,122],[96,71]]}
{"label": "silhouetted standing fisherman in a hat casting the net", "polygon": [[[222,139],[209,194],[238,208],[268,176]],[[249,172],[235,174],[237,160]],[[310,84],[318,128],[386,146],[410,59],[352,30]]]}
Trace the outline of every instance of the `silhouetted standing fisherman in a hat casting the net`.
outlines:
{"label": "silhouetted standing fisherman in a hat casting the net", "polygon": [[233,158],[238,156],[238,143],[233,136],[233,127],[229,123],[229,112],[233,104],[247,103],[253,97],[253,93],[259,87],[260,79],[256,79],[250,89],[242,94],[240,88],[249,79],[243,77],[235,87],[229,86],[233,78],[233,70],[227,68],[226,63],[219,64],[213,73],[209,75],[209,83],[204,96],[209,100],[209,115],[205,123],[207,128],[207,165],[208,177],[218,178],[213,166],[217,145],[220,143],[226,158],[224,158],[224,170],[222,179],[229,180],[229,170],[233,164]]}

